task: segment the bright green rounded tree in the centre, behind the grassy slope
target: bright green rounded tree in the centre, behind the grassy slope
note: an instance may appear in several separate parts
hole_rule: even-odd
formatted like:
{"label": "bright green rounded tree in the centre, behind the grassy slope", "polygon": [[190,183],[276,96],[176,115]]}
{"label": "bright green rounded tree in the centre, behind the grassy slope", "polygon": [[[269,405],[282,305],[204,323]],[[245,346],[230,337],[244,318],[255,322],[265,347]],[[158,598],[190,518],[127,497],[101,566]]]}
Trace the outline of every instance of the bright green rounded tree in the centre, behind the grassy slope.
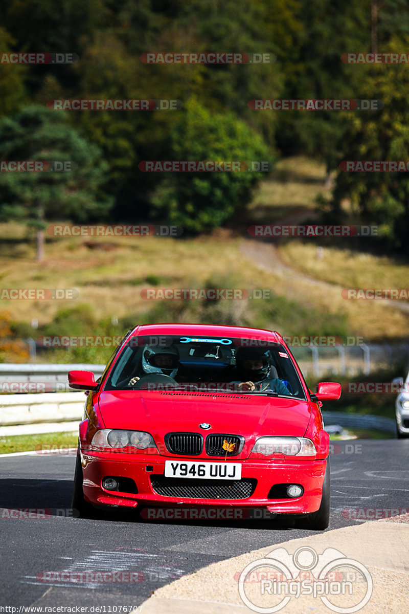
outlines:
{"label": "bright green rounded tree in the centre, behind the grassy slope", "polygon": [[[231,112],[213,114],[196,100],[170,133],[170,160],[269,160],[264,141]],[[167,222],[199,233],[219,227],[248,203],[263,173],[166,174],[152,202]]]}

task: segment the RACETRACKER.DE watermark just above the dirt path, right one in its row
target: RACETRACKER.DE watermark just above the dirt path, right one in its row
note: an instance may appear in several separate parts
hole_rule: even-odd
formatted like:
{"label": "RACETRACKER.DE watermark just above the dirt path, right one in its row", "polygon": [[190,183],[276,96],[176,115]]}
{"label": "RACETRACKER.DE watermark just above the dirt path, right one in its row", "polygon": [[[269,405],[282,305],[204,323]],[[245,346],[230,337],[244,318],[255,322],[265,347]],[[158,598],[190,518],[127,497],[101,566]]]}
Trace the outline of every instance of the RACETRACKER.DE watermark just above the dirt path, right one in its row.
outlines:
{"label": "RACETRACKER.DE watermark just above the dirt path, right one in its row", "polygon": [[351,225],[289,225],[268,224],[249,226],[248,234],[251,236],[377,236],[377,226],[351,226]]}

